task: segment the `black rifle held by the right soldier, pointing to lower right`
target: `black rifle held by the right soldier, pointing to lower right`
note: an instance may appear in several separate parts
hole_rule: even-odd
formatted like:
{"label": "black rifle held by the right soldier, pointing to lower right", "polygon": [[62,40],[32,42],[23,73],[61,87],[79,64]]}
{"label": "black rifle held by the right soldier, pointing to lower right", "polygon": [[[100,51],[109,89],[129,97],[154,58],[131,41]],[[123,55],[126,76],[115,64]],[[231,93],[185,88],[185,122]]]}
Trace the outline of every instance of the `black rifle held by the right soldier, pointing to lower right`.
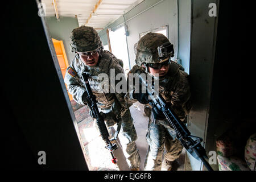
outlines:
{"label": "black rifle held by the right soldier, pointing to lower right", "polygon": [[136,73],[139,75],[139,81],[142,86],[146,86],[146,91],[148,98],[150,98],[150,105],[152,108],[162,111],[164,117],[166,117],[171,127],[175,130],[177,139],[180,140],[181,144],[189,154],[191,154],[195,159],[201,160],[209,171],[213,171],[212,167],[210,167],[206,160],[208,159],[206,151],[200,144],[203,139],[191,135],[187,127],[176,116],[174,110],[172,110],[172,108],[167,104],[166,100],[164,100],[160,94],[156,94],[154,84],[147,84],[147,81],[141,76],[142,71],[138,70]]}

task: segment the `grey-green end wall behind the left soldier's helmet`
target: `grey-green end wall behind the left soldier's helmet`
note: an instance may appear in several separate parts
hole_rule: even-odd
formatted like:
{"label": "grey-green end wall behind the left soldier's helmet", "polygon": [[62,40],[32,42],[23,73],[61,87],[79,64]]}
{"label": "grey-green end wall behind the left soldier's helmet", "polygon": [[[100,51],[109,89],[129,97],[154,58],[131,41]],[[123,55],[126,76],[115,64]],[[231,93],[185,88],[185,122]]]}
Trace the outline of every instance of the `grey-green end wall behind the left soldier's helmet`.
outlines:
{"label": "grey-green end wall behind the left soldier's helmet", "polygon": [[69,48],[69,35],[74,28],[79,27],[77,18],[60,17],[60,21],[58,22],[55,17],[46,17],[46,23],[51,38],[63,40],[68,63],[70,64],[75,56],[75,53],[71,52]]}

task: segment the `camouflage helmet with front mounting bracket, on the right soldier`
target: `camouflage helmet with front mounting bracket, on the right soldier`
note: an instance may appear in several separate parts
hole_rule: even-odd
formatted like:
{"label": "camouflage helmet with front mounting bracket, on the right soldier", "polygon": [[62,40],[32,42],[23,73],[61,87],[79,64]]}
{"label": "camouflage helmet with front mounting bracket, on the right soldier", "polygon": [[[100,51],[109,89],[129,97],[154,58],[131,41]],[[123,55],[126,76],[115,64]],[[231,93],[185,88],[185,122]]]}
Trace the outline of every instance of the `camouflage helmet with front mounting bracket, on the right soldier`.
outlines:
{"label": "camouflage helmet with front mounting bracket, on the right soldier", "polygon": [[135,62],[140,67],[144,64],[162,63],[174,57],[174,45],[166,36],[158,33],[148,33],[134,45]]}

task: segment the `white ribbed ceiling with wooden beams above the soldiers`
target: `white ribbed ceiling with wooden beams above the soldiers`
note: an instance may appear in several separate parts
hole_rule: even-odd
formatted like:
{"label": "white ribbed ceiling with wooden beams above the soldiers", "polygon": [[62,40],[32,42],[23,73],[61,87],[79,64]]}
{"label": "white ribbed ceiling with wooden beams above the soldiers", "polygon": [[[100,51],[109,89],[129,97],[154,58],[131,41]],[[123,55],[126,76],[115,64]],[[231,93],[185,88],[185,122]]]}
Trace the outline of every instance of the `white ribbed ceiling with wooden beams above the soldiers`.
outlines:
{"label": "white ribbed ceiling with wooden beams above the soldiers", "polygon": [[42,3],[45,4],[46,16],[77,16],[79,26],[91,26],[99,31],[142,1],[144,0],[42,0]]}

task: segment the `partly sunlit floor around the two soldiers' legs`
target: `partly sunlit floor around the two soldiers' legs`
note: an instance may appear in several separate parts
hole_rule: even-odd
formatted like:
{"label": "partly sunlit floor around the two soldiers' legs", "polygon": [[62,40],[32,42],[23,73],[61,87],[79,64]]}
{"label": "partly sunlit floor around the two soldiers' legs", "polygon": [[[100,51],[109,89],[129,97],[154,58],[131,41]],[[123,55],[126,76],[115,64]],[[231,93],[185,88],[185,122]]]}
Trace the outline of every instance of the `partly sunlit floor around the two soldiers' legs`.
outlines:
{"label": "partly sunlit floor around the two soldiers' legs", "polygon": [[[143,105],[136,102],[130,107],[131,115],[134,119],[134,126],[137,131],[138,139],[136,140],[137,149],[139,150],[139,155],[141,156],[140,170],[144,169],[144,161],[146,157],[146,152],[148,144],[146,142],[147,124],[148,118],[143,115]],[[89,120],[88,120],[89,119]],[[87,122],[87,124],[85,124]],[[88,123],[90,123],[88,125]],[[112,127],[112,133],[114,133],[116,127]],[[84,121],[79,123],[79,130],[81,138],[84,142],[86,150],[86,160],[89,164],[90,170],[102,171],[102,170],[114,170],[114,171],[129,171],[126,158],[122,152],[122,146],[117,140],[118,149],[114,151],[114,155],[118,159],[117,165],[111,162],[111,155],[108,150],[106,150],[105,142],[100,137],[100,133],[97,131],[95,125],[92,125],[92,119],[86,118]],[[176,160],[173,164],[173,171],[184,171],[185,162],[185,150],[180,155],[180,158]],[[163,171],[165,169],[162,168]]]}

